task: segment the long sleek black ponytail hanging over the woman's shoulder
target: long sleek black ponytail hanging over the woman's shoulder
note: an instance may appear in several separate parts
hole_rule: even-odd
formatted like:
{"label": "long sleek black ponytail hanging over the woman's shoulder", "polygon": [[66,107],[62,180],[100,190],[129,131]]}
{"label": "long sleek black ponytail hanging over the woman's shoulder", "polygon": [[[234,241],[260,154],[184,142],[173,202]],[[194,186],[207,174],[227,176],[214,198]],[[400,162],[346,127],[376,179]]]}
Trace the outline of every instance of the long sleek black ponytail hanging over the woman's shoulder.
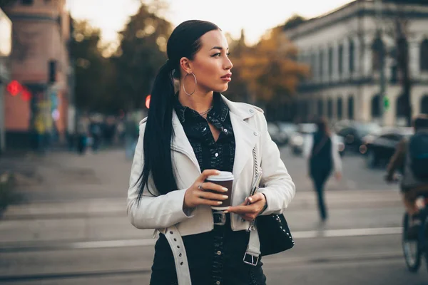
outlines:
{"label": "long sleek black ponytail hanging over the woman's shoulder", "polygon": [[[177,190],[171,159],[171,139],[173,136],[173,95],[174,85],[171,77],[170,61],[161,67],[156,76],[151,93],[150,108],[143,140],[143,172],[138,179],[138,201],[148,188],[151,175],[159,194],[164,195]],[[138,183],[137,182],[137,183]],[[148,189],[152,195],[155,195]]]}

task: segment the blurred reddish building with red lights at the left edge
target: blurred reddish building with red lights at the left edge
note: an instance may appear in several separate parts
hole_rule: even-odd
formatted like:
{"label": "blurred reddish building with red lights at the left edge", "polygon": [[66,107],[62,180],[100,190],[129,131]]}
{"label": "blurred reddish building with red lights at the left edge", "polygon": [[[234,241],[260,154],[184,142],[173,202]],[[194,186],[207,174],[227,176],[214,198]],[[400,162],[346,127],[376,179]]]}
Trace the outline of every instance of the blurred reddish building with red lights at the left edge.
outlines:
{"label": "blurred reddish building with red lights at the left edge", "polygon": [[6,96],[6,141],[13,147],[40,146],[46,142],[40,138],[64,139],[71,38],[65,4],[18,0],[5,9],[13,23],[11,79],[28,91]]}

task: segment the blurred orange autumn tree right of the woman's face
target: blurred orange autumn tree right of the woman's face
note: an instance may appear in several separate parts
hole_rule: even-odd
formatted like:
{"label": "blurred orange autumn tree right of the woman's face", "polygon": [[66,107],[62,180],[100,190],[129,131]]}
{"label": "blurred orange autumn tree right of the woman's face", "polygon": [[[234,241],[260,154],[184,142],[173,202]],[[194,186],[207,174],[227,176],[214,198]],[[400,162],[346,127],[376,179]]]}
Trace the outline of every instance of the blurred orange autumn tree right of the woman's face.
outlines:
{"label": "blurred orange autumn tree right of the woman's face", "polygon": [[[245,82],[250,103],[268,103],[295,95],[301,78],[309,67],[297,63],[297,48],[282,33],[282,26],[268,31],[253,47],[243,46],[232,53],[235,73]],[[234,73],[234,74],[235,74]]]}

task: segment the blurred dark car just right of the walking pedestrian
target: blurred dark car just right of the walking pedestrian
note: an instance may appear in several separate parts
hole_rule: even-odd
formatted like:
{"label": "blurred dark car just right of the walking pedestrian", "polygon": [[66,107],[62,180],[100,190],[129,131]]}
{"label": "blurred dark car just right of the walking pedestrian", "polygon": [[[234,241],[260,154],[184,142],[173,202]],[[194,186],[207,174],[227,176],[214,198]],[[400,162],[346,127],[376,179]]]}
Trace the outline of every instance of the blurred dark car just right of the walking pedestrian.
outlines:
{"label": "blurred dark car just right of the walking pedestrian", "polygon": [[377,123],[352,122],[337,125],[337,135],[343,138],[347,152],[359,152],[362,138],[372,133],[378,133],[381,127]]}

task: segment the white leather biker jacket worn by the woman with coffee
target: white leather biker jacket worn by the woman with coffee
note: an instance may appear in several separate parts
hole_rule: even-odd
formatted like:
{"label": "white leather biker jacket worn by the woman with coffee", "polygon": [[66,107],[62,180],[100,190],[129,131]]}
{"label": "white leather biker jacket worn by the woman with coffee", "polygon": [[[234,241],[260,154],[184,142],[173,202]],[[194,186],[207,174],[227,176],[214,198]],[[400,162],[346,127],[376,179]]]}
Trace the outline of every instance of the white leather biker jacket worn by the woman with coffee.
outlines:
{"label": "white leather biker jacket worn by the woman with coffee", "polygon": [[[267,199],[267,209],[263,214],[280,214],[290,204],[295,195],[295,185],[280,158],[275,142],[267,133],[267,123],[263,110],[246,103],[234,103],[222,95],[230,110],[230,121],[235,133],[235,162],[233,165],[232,204],[241,204],[250,193],[253,182],[254,165],[252,151],[255,147],[259,167],[263,177],[259,192]],[[200,167],[193,148],[185,135],[175,112],[173,113],[173,163],[174,174],[179,190],[154,197],[147,189],[141,202],[137,202],[138,187],[136,181],[143,170],[143,140],[146,119],[140,123],[140,137],[133,159],[130,186],[128,189],[128,217],[138,229],[165,229],[175,226],[181,236],[209,232],[213,229],[213,214],[209,206],[198,206],[192,212],[183,212],[185,191],[193,185],[200,175]],[[150,140],[150,138],[146,138]],[[156,190],[149,178],[151,192]],[[231,214],[231,227],[234,231],[248,229],[249,223],[243,222],[238,214]]]}

